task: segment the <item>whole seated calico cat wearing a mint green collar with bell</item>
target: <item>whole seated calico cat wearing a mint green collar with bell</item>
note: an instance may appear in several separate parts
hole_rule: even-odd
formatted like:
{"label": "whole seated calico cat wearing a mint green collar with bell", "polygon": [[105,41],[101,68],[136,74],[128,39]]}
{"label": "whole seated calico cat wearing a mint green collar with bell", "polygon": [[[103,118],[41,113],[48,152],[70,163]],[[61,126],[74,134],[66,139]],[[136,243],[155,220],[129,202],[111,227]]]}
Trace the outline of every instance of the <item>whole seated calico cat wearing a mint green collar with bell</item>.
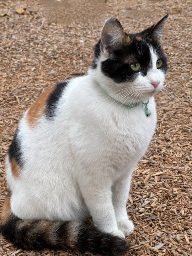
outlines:
{"label": "whole seated calico cat wearing a mint green collar with bell", "polygon": [[1,214],[1,232],[16,246],[126,253],[134,229],[126,202],[156,126],[167,18],[136,34],[109,18],[88,74],[48,89],[23,114]]}

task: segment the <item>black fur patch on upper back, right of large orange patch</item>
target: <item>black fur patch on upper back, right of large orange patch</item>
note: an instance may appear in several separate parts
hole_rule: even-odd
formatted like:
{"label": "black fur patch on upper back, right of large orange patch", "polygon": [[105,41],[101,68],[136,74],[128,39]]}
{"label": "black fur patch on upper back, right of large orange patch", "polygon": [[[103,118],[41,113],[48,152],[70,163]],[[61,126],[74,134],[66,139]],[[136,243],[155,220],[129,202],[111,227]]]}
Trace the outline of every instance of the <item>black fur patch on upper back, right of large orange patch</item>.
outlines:
{"label": "black fur patch on upper back, right of large orange patch", "polygon": [[68,83],[68,81],[59,82],[54,91],[50,94],[46,105],[46,117],[48,117],[48,119],[56,115],[55,108],[57,107],[57,103],[62,95],[62,92],[65,90]]}

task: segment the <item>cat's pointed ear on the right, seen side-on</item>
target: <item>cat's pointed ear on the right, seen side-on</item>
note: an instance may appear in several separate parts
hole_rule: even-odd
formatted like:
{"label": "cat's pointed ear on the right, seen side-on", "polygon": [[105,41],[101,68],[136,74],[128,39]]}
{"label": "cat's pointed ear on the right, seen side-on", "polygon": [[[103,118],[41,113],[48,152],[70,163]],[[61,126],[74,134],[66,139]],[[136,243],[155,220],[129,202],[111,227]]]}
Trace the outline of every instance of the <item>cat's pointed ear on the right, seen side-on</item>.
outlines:
{"label": "cat's pointed ear on the right, seen side-on", "polygon": [[142,33],[145,35],[145,37],[150,37],[152,40],[161,43],[162,32],[164,31],[165,23],[168,17],[169,14],[165,15],[160,21],[154,23]]}

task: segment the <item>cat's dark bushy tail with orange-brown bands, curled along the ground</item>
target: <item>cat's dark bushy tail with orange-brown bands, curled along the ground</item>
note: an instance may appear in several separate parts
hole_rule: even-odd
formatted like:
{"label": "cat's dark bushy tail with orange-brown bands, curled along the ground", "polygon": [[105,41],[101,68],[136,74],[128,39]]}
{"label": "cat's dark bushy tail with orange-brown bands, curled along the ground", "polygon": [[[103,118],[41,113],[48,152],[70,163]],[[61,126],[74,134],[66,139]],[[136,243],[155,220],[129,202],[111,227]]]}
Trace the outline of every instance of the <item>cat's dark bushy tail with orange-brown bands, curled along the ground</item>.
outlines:
{"label": "cat's dark bushy tail with orange-brown bands, curled along the ground", "polygon": [[87,223],[22,220],[10,210],[7,197],[2,207],[1,233],[17,247],[90,251],[106,256],[126,254],[128,245],[118,236],[103,233]]}

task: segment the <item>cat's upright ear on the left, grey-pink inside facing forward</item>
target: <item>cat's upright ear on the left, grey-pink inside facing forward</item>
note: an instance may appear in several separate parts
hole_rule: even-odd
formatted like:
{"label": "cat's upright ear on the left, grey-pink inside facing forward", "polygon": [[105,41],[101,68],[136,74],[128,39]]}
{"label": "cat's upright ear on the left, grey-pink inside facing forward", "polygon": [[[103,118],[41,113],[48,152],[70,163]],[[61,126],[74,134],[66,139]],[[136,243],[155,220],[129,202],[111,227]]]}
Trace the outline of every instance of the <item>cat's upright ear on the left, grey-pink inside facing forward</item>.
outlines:
{"label": "cat's upright ear on the left, grey-pink inside facing forward", "polygon": [[101,30],[101,52],[111,54],[118,49],[129,37],[126,35],[121,23],[116,18],[108,18]]}

